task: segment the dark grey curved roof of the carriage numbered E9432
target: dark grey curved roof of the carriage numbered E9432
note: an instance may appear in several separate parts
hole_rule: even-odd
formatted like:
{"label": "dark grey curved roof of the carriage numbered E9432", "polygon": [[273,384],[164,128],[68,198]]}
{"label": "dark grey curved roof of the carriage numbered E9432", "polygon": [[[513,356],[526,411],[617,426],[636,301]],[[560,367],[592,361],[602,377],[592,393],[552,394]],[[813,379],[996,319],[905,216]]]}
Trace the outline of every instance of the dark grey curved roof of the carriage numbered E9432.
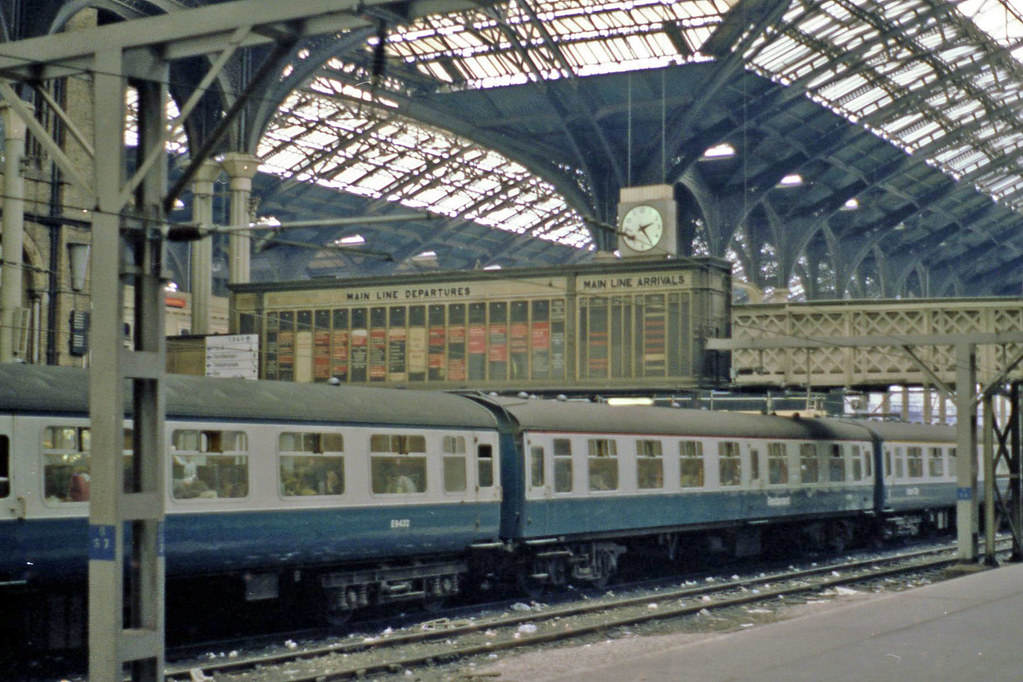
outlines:
{"label": "dark grey curved roof of the carriage numbered E9432", "polygon": [[[86,412],[88,377],[83,369],[2,364],[0,411]],[[494,416],[484,407],[443,393],[182,374],[168,374],[165,385],[167,415],[171,417],[458,425],[466,428],[496,426]],[[127,397],[125,409],[131,409],[131,400]]]}

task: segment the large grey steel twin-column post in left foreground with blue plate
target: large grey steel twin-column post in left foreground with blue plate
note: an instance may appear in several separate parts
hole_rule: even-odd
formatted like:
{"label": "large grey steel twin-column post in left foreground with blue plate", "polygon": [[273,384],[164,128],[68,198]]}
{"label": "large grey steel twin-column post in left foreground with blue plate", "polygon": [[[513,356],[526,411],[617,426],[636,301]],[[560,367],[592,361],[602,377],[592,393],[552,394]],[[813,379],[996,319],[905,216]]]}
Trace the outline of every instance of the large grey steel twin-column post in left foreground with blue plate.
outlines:
{"label": "large grey steel twin-column post in left foreground with blue plate", "polygon": [[[166,64],[138,84],[138,153],[161,144]],[[92,362],[89,415],[89,677],[114,682],[162,680],[164,668],[163,221],[165,164],[154,164],[123,224],[125,79],[120,50],[97,52],[92,248]],[[122,277],[135,285],[135,327],[123,345]],[[126,379],[132,388],[132,453],[125,476]],[[126,548],[125,527],[131,545]],[[127,560],[126,560],[127,559]],[[127,577],[127,586],[124,583]],[[125,589],[127,587],[127,589]]]}

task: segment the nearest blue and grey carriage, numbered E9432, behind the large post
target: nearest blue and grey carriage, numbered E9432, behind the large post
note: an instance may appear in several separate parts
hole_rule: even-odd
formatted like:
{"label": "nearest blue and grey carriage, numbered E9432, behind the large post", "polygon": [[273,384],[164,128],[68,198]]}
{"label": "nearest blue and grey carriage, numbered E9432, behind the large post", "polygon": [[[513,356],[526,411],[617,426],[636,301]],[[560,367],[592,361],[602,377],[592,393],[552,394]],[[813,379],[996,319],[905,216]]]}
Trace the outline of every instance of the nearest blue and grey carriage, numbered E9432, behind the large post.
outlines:
{"label": "nearest blue and grey carriage, numbered E9432, behind the large post", "polygon": [[[166,387],[169,582],[243,576],[250,599],[314,582],[344,617],[458,592],[468,548],[498,538],[496,422],[480,405],[179,375]],[[85,371],[0,365],[0,585],[84,580],[87,396]]]}

